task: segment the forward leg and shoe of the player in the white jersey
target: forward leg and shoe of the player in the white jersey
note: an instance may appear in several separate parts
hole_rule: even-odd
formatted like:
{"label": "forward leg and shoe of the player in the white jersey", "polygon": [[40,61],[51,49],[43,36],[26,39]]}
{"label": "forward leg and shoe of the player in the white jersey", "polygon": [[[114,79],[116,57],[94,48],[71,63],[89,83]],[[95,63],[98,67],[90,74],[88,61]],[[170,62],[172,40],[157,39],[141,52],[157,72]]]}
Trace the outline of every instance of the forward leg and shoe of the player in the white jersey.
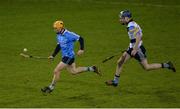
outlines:
{"label": "forward leg and shoe of the player in the white jersey", "polygon": [[114,75],[114,79],[106,81],[107,85],[112,85],[112,86],[117,86],[118,85],[119,78],[120,78],[120,73],[122,71],[123,64],[125,62],[127,62],[130,58],[131,58],[131,56],[127,52],[123,53],[123,55],[117,61],[117,66],[116,66],[116,72],[115,72],[115,75]]}

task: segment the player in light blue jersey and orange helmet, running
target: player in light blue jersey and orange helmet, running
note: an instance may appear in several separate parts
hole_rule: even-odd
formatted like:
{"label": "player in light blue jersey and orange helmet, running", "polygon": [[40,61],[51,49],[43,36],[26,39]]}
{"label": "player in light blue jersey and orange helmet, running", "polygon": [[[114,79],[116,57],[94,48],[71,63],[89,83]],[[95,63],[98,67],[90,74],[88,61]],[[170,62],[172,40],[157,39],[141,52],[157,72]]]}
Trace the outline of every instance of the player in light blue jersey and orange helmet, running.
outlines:
{"label": "player in light blue jersey and orange helmet, running", "polygon": [[79,74],[82,72],[91,71],[97,73],[98,75],[101,75],[99,69],[96,66],[76,67],[76,64],[74,62],[74,43],[76,41],[79,41],[80,49],[77,52],[77,55],[82,55],[84,53],[84,39],[81,36],[65,29],[64,23],[61,20],[54,22],[53,28],[57,33],[58,43],[53,54],[49,56],[49,59],[53,59],[61,50],[62,60],[54,69],[54,77],[52,83],[49,86],[42,88],[42,92],[50,93],[53,91],[57,81],[59,80],[60,73],[64,68],[66,68],[72,74]]}

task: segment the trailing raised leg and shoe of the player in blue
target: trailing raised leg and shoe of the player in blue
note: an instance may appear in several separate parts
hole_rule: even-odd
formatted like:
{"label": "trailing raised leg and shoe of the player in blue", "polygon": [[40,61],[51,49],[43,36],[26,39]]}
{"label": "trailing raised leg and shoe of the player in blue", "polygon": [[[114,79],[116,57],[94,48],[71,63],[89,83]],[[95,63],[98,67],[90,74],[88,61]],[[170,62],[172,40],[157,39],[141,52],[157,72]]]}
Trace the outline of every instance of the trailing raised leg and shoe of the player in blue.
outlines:
{"label": "trailing raised leg and shoe of the player in blue", "polygon": [[74,75],[82,73],[82,72],[88,72],[88,71],[95,72],[98,75],[100,75],[99,69],[96,66],[76,67],[76,64],[72,63],[71,65],[67,66],[67,70]]}

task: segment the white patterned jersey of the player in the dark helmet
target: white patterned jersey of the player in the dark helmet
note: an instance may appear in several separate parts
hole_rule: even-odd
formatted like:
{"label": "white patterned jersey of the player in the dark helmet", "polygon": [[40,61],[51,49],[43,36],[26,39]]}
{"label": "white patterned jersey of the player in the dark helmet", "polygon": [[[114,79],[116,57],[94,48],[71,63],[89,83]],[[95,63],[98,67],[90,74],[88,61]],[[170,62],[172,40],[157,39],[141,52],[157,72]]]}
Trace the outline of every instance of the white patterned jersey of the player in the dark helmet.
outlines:
{"label": "white patterned jersey of the player in the dark helmet", "polygon": [[[129,47],[133,48],[136,43],[136,35],[138,34],[138,36],[142,37],[142,29],[135,21],[131,21],[127,25],[127,31],[130,39]],[[138,47],[140,47],[141,45],[142,40],[140,41]]]}

